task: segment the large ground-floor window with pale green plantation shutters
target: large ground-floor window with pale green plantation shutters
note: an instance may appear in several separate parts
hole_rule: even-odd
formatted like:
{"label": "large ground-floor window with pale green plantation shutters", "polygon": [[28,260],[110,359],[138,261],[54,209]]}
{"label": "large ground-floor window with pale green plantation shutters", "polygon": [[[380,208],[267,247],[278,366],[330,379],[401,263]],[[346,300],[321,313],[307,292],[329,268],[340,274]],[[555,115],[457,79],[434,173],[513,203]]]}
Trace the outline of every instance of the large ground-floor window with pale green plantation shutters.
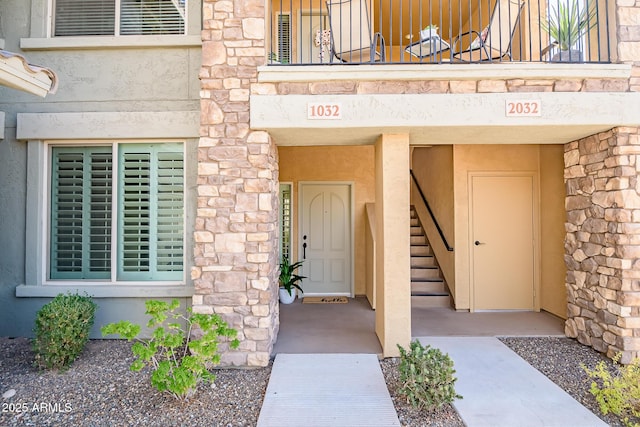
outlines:
{"label": "large ground-floor window with pale green plantation shutters", "polygon": [[51,149],[49,278],[178,281],[182,144]]}

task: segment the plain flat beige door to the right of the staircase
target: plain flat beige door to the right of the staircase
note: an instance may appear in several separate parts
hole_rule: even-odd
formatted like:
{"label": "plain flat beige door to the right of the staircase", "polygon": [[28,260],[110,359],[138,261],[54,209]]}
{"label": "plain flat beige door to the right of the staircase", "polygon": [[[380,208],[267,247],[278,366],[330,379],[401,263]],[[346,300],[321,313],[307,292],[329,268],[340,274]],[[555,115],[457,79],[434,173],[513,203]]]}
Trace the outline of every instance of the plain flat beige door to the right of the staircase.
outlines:
{"label": "plain flat beige door to the right of the staircase", "polygon": [[533,310],[534,176],[471,177],[472,306]]}

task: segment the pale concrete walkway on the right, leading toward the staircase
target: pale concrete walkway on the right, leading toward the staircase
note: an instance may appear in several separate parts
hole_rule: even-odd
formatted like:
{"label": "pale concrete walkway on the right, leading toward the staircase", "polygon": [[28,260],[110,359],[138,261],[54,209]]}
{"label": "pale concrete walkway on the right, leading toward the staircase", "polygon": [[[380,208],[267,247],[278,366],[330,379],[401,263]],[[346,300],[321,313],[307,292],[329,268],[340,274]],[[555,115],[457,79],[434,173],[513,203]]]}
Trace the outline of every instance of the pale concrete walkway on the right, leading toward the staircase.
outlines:
{"label": "pale concrete walkway on the right, leading toward the staircase", "polygon": [[463,397],[454,407],[469,427],[607,425],[497,338],[418,340],[453,359],[456,392]]}

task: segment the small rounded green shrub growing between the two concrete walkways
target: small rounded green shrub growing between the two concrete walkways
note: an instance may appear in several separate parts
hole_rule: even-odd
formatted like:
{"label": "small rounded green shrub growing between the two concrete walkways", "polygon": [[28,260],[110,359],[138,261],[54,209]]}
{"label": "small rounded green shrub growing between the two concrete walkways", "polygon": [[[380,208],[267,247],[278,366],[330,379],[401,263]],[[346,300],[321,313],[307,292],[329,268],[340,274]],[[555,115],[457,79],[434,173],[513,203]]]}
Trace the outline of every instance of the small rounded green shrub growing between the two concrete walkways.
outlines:
{"label": "small rounded green shrub growing between the two concrete walkways", "polygon": [[462,399],[455,392],[453,360],[437,348],[423,347],[411,342],[410,351],[400,349],[400,393],[414,408],[433,411],[454,399]]}

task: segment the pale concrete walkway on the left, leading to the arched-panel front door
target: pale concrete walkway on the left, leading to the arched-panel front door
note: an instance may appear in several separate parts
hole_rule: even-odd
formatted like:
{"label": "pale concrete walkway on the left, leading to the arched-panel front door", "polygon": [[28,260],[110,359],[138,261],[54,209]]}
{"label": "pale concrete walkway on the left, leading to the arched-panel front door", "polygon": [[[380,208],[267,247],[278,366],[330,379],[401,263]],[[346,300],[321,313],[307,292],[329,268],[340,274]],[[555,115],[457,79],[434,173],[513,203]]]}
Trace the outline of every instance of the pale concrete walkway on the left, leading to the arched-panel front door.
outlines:
{"label": "pale concrete walkway on the left, leading to the arched-panel front door", "polygon": [[278,354],[258,427],[400,426],[375,354]]}

